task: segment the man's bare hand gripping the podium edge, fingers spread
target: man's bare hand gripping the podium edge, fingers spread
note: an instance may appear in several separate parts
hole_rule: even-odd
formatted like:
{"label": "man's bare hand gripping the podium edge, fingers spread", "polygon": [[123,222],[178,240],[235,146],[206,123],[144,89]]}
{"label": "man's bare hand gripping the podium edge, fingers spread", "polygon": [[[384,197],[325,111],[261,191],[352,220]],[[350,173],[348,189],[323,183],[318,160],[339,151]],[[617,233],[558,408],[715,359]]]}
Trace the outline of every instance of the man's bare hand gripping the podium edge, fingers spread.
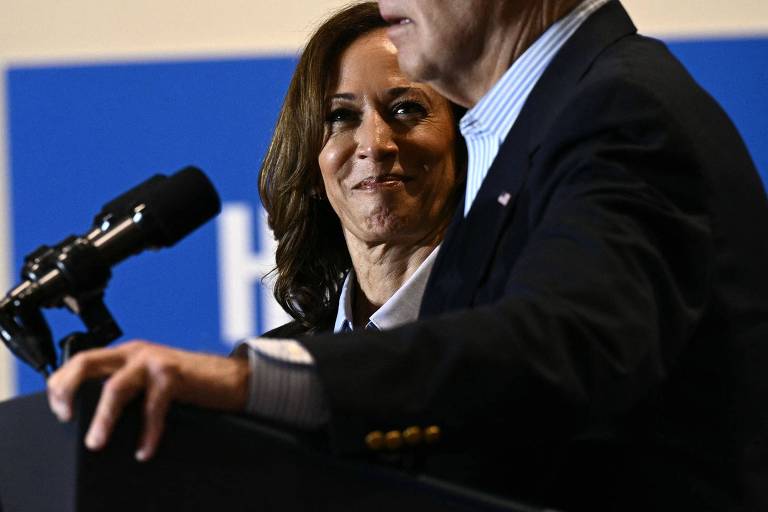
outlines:
{"label": "man's bare hand gripping the podium edge, fingers spread", "polygon": [[136,458],[152,457],[171,402],[242,411],[248,393],[248,361],[186,352],[144,341],[80,352],[48,379],[48,402],[61,421],[72,417],[72,400],[89,379],[108,377],[85,444],[102,448],[125,405],[142,391],[144,427]]}

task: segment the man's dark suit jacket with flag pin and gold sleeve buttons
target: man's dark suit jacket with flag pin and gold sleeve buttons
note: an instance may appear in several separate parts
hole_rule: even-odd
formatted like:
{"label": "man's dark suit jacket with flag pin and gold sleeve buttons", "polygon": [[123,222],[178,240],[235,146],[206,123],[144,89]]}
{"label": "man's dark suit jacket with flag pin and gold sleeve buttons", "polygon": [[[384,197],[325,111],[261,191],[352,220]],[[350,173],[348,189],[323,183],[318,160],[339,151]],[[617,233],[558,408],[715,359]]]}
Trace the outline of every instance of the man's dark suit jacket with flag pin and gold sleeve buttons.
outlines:
{"label": "man's dark suit jacket with flag pin and gold sleeve buttons", "polygon": [[568,511],[768,510],[766,197],[727,116],[617,1],[536,85],[422,317],[301,338],[339,453],[437,425],[390,458]]}

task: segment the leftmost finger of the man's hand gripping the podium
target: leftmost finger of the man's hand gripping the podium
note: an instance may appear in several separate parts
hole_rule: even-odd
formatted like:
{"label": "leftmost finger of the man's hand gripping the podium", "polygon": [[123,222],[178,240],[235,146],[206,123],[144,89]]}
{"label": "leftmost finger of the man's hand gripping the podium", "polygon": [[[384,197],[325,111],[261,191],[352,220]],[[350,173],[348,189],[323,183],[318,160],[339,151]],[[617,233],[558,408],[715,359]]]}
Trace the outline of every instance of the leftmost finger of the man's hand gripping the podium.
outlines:
{"label": "leftmost finger of the man's hand gripping the podium", "polygon": [[61,421],[72,418],[72,399],[83,381],[104,377],[123,365],[125,355],[113,349],[95,349],[75,355],[48,378],[48,404]]}

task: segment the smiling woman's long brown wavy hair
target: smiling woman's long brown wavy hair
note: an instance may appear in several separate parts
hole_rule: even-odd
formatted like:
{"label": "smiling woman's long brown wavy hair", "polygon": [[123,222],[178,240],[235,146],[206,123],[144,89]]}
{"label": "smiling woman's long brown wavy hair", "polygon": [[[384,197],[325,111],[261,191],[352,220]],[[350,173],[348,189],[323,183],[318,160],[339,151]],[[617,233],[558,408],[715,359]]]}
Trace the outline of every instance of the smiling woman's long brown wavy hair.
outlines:
{"label": "smiling woman's long brown wavy hair", "polygon": [[325,98],[344,50],[386,26],[376,2],[345,7],[320,25],[301,54],[261,166],[259,194],[277,240],[275,298],[306,327],[332,322],[352,266],[341,223],[320,194]]}

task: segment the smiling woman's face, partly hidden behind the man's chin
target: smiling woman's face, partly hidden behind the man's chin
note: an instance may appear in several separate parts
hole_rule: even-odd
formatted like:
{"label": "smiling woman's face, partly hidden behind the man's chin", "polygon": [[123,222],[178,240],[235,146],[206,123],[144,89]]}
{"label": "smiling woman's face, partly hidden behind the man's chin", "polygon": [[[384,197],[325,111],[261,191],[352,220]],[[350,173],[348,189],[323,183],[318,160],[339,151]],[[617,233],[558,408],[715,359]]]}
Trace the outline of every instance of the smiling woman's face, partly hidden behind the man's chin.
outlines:
{"label": "smiling woman's face, partly hidden behind the man's chin", "polygon": [[403,76],[383,29],[342,54],[326,102],[319,164],[347,243],[434,241],[457,185],[448,102]]}

